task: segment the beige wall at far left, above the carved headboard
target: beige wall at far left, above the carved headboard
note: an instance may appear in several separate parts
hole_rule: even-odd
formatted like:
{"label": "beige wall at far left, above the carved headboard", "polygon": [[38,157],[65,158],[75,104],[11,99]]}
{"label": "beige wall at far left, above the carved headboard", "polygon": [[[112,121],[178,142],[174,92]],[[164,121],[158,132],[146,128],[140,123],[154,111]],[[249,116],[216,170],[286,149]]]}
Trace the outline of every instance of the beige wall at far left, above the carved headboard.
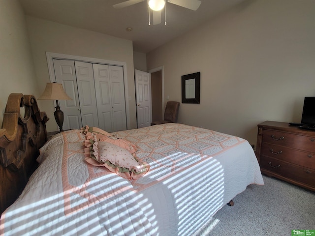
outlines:
{"label": "beige wall at far left, above the carved headboard", "polygon": [[0,124],[10,93],[38,95],[25,15],[17,0],[0,0]]}

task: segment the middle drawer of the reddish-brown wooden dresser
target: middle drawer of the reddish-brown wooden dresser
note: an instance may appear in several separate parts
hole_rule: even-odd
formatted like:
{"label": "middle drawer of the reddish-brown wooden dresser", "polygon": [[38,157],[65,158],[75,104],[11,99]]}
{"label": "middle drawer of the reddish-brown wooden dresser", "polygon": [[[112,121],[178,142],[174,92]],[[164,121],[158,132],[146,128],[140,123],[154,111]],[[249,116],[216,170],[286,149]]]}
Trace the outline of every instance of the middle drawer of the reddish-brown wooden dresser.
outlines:
{"label": "middle drawer of the reddish-brown wooden dresser", "polygon": [[315,169],[315,153],[262,143],[261,155]]}

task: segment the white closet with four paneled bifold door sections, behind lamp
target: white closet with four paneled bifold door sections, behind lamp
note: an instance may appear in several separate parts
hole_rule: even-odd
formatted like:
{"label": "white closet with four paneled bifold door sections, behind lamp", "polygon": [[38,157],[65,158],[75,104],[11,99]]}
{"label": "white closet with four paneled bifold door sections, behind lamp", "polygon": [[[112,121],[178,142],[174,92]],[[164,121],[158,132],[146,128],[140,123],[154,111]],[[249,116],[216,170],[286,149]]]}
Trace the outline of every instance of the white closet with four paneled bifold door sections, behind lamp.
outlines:
{"label": "white closet with four paneled bifold door sections, behind lamp", "polygon": [[73,99],[59,101],[63,130],[85,125],[107,132],[126,130],[126,104],[122,66],[53,59],[57,83]]}

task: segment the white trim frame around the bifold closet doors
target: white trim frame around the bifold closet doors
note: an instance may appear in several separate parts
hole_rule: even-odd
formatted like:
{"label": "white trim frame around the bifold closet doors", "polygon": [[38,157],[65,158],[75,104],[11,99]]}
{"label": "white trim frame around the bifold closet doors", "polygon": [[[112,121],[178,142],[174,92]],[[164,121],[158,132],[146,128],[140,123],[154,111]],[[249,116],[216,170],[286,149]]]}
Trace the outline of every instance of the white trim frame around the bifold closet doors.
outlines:
{"label": "white trim frame around the bifold closet doors", "polygon": [[[66,55],[60,53],[51,53],[46,52],[47,58],[47,65],[48,65],[48,72],[50,82],[56,82],[55,72],[54,72],[54,64],[53,59],[66,59],[66,60],[78,60],[83,62],[89,63],[99,63],[99,64],[107,64],[107,65],[116,65],[123,67],[124,73],[124,87],[125,87],[125,104],[126,104],[126,122],[127,122],[127,129],[130,129],[130,113],[129,113],[129,101],[128,101],[128,78],[127,78],[127,63],[122,61],[114,61],[114,60],[105,60],[105,59],[96,59],[96,58],[87,58],[81,56],[73,56],[73,55]],[[54,101],[54,104],[56,101]],[[56,106],[56,104],[55,104]]]}

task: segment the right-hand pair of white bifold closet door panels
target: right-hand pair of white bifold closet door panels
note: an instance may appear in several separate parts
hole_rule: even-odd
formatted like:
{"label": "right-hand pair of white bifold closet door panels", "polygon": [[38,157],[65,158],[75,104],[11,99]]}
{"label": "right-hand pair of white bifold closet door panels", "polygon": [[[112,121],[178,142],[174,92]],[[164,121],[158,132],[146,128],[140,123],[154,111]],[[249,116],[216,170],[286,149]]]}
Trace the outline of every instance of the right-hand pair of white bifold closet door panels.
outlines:
{"label": "right-hand pair of white bifold closet door panels", "polygon": [[122,66],[93,64],[99,127],[107,132],[127,129]]}

